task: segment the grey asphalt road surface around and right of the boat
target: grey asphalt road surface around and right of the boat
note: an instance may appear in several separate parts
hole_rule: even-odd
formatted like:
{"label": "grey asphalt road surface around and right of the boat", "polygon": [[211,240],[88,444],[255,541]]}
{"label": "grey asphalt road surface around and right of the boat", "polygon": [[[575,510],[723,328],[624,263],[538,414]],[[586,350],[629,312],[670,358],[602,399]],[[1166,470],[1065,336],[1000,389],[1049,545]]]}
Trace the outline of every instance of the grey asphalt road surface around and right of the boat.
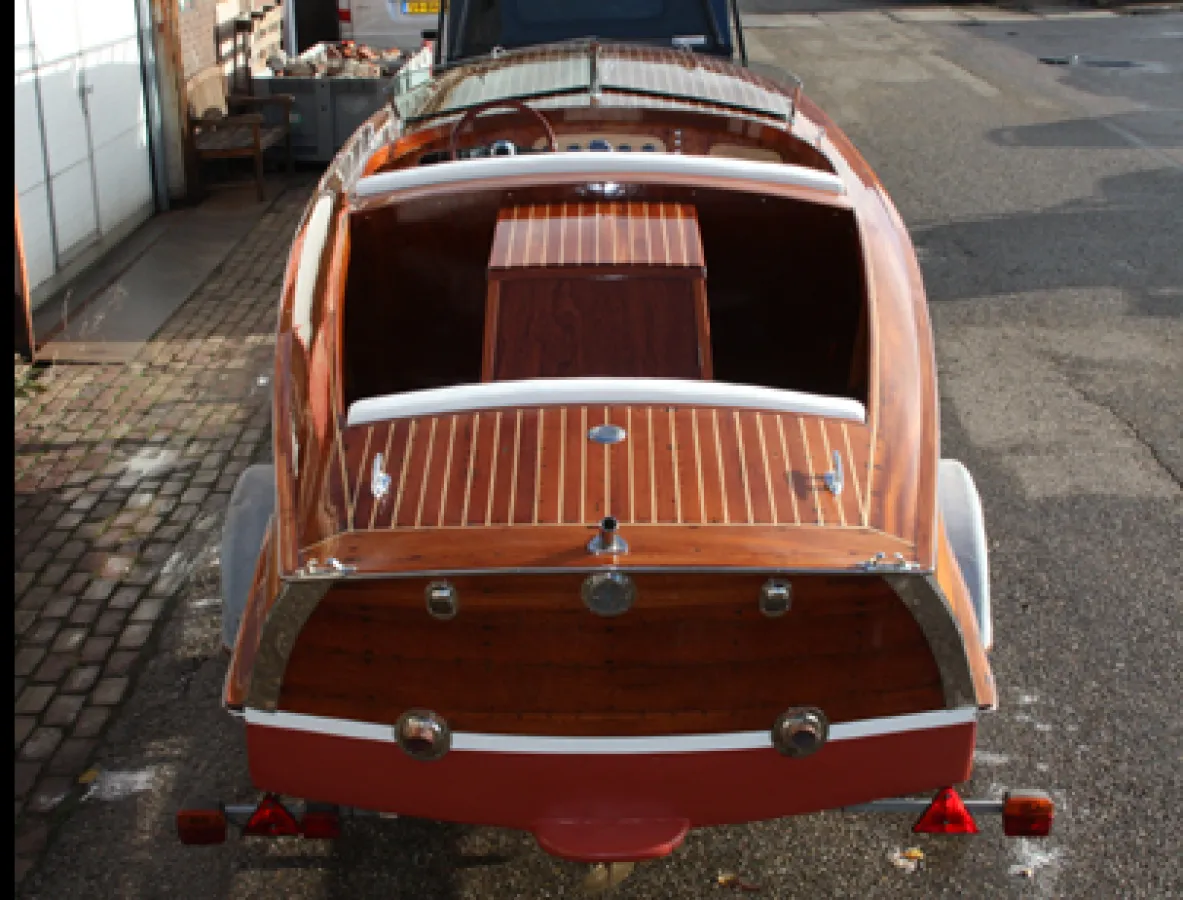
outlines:
{"label": "grey asphalt road surface around and right of the boat", "polygon": [[[1045,788],[1059,817],[1047,841],[841,814],[698,831],[614,895],[723,896],[720,873],[778,898],[1183,894],[1183,15],[750,6],[754,63],[847,130],[924,267],[943,454],[975,474],[991,551],[1001,708],[968,792]],[[207,553],[27,896],[578,893],[583,867],[487,828],[180,847],[185,797],[251,796],[216,594]],[[891,861],[907,847],[916,872]]]}

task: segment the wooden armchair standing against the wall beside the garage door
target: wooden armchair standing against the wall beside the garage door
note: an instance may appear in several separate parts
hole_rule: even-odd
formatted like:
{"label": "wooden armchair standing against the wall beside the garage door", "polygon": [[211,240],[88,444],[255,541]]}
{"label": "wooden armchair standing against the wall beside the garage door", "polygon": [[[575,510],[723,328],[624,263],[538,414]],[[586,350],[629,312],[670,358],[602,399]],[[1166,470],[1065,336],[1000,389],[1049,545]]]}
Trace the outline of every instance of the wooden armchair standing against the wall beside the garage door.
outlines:
{"label": "wooden armchair standing against the wall beside the garage door", "polygon": [[[254,158],[254,180],[263,192],[263,153],[280,142],[286,143],[287,171],[292,170],[291,108],[296,98],[286,93],[270,97],[247,97],[226,93],[226,77],[218,66],[209,66],[186,83],[189,95],[189,135],[195,157],[195,181],[201,181],[203,160],[235,157]],[[261,112],[239,112],[244,109],[280,106],[279,124],[266,124]],[[232,115],[233,114],[233,115]]]}

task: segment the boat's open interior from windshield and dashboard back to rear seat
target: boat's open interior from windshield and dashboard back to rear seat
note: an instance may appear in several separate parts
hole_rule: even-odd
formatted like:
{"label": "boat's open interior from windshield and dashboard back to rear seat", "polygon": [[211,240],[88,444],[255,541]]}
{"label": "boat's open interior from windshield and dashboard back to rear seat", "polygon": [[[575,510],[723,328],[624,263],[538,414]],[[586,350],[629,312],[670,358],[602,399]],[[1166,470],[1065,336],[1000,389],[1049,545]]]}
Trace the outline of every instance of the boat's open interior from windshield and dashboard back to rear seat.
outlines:
{"label": "boat's open interior from windshield and dashboard back to rear seat", "polygon": [[[342,264],[344,407],[606,377],[865,404],[859,227],[829,158],[776,119],[791,103],[702,61],[662,76],[693,76],[696,105],[646,86],[677,66],[623,51],[593,52],[593,102],[582,76],[563,92],[583,59],[444,76],[373,154]],[[552,86],[526,104],[531,66]]]}

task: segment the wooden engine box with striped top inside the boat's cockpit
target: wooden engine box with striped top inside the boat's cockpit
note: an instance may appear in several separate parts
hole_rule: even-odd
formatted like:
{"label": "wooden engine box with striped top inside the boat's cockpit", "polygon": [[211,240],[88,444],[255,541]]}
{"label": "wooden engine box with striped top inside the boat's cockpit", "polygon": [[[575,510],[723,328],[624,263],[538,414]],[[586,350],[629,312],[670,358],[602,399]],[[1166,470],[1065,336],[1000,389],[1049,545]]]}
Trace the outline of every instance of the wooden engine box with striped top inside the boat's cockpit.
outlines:
{"label": "wooden engine box with striped top inside the boat's cockpit", "polygon": [[581,376],[711,377],[706,268],[692,206],[500,211],[481,377]]}

